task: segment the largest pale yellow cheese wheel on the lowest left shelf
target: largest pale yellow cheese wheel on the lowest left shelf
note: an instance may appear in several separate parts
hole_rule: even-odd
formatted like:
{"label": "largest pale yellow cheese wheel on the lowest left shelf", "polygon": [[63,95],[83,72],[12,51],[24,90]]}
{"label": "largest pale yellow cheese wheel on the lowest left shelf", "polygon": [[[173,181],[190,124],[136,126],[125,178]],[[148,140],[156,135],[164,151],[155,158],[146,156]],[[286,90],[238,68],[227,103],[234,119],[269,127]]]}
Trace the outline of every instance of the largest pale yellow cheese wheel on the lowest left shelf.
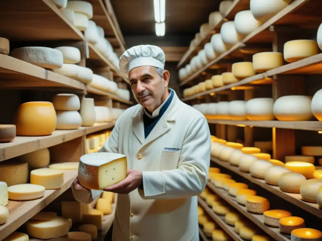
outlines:
{"label": "largest pale yellow cheese wheel on the lowest left shelf", "polygon": [[67,220],[56,217],[48,221],[28,220],[25,223],[27,234],[35,238],[58,238],[68,233]]}

